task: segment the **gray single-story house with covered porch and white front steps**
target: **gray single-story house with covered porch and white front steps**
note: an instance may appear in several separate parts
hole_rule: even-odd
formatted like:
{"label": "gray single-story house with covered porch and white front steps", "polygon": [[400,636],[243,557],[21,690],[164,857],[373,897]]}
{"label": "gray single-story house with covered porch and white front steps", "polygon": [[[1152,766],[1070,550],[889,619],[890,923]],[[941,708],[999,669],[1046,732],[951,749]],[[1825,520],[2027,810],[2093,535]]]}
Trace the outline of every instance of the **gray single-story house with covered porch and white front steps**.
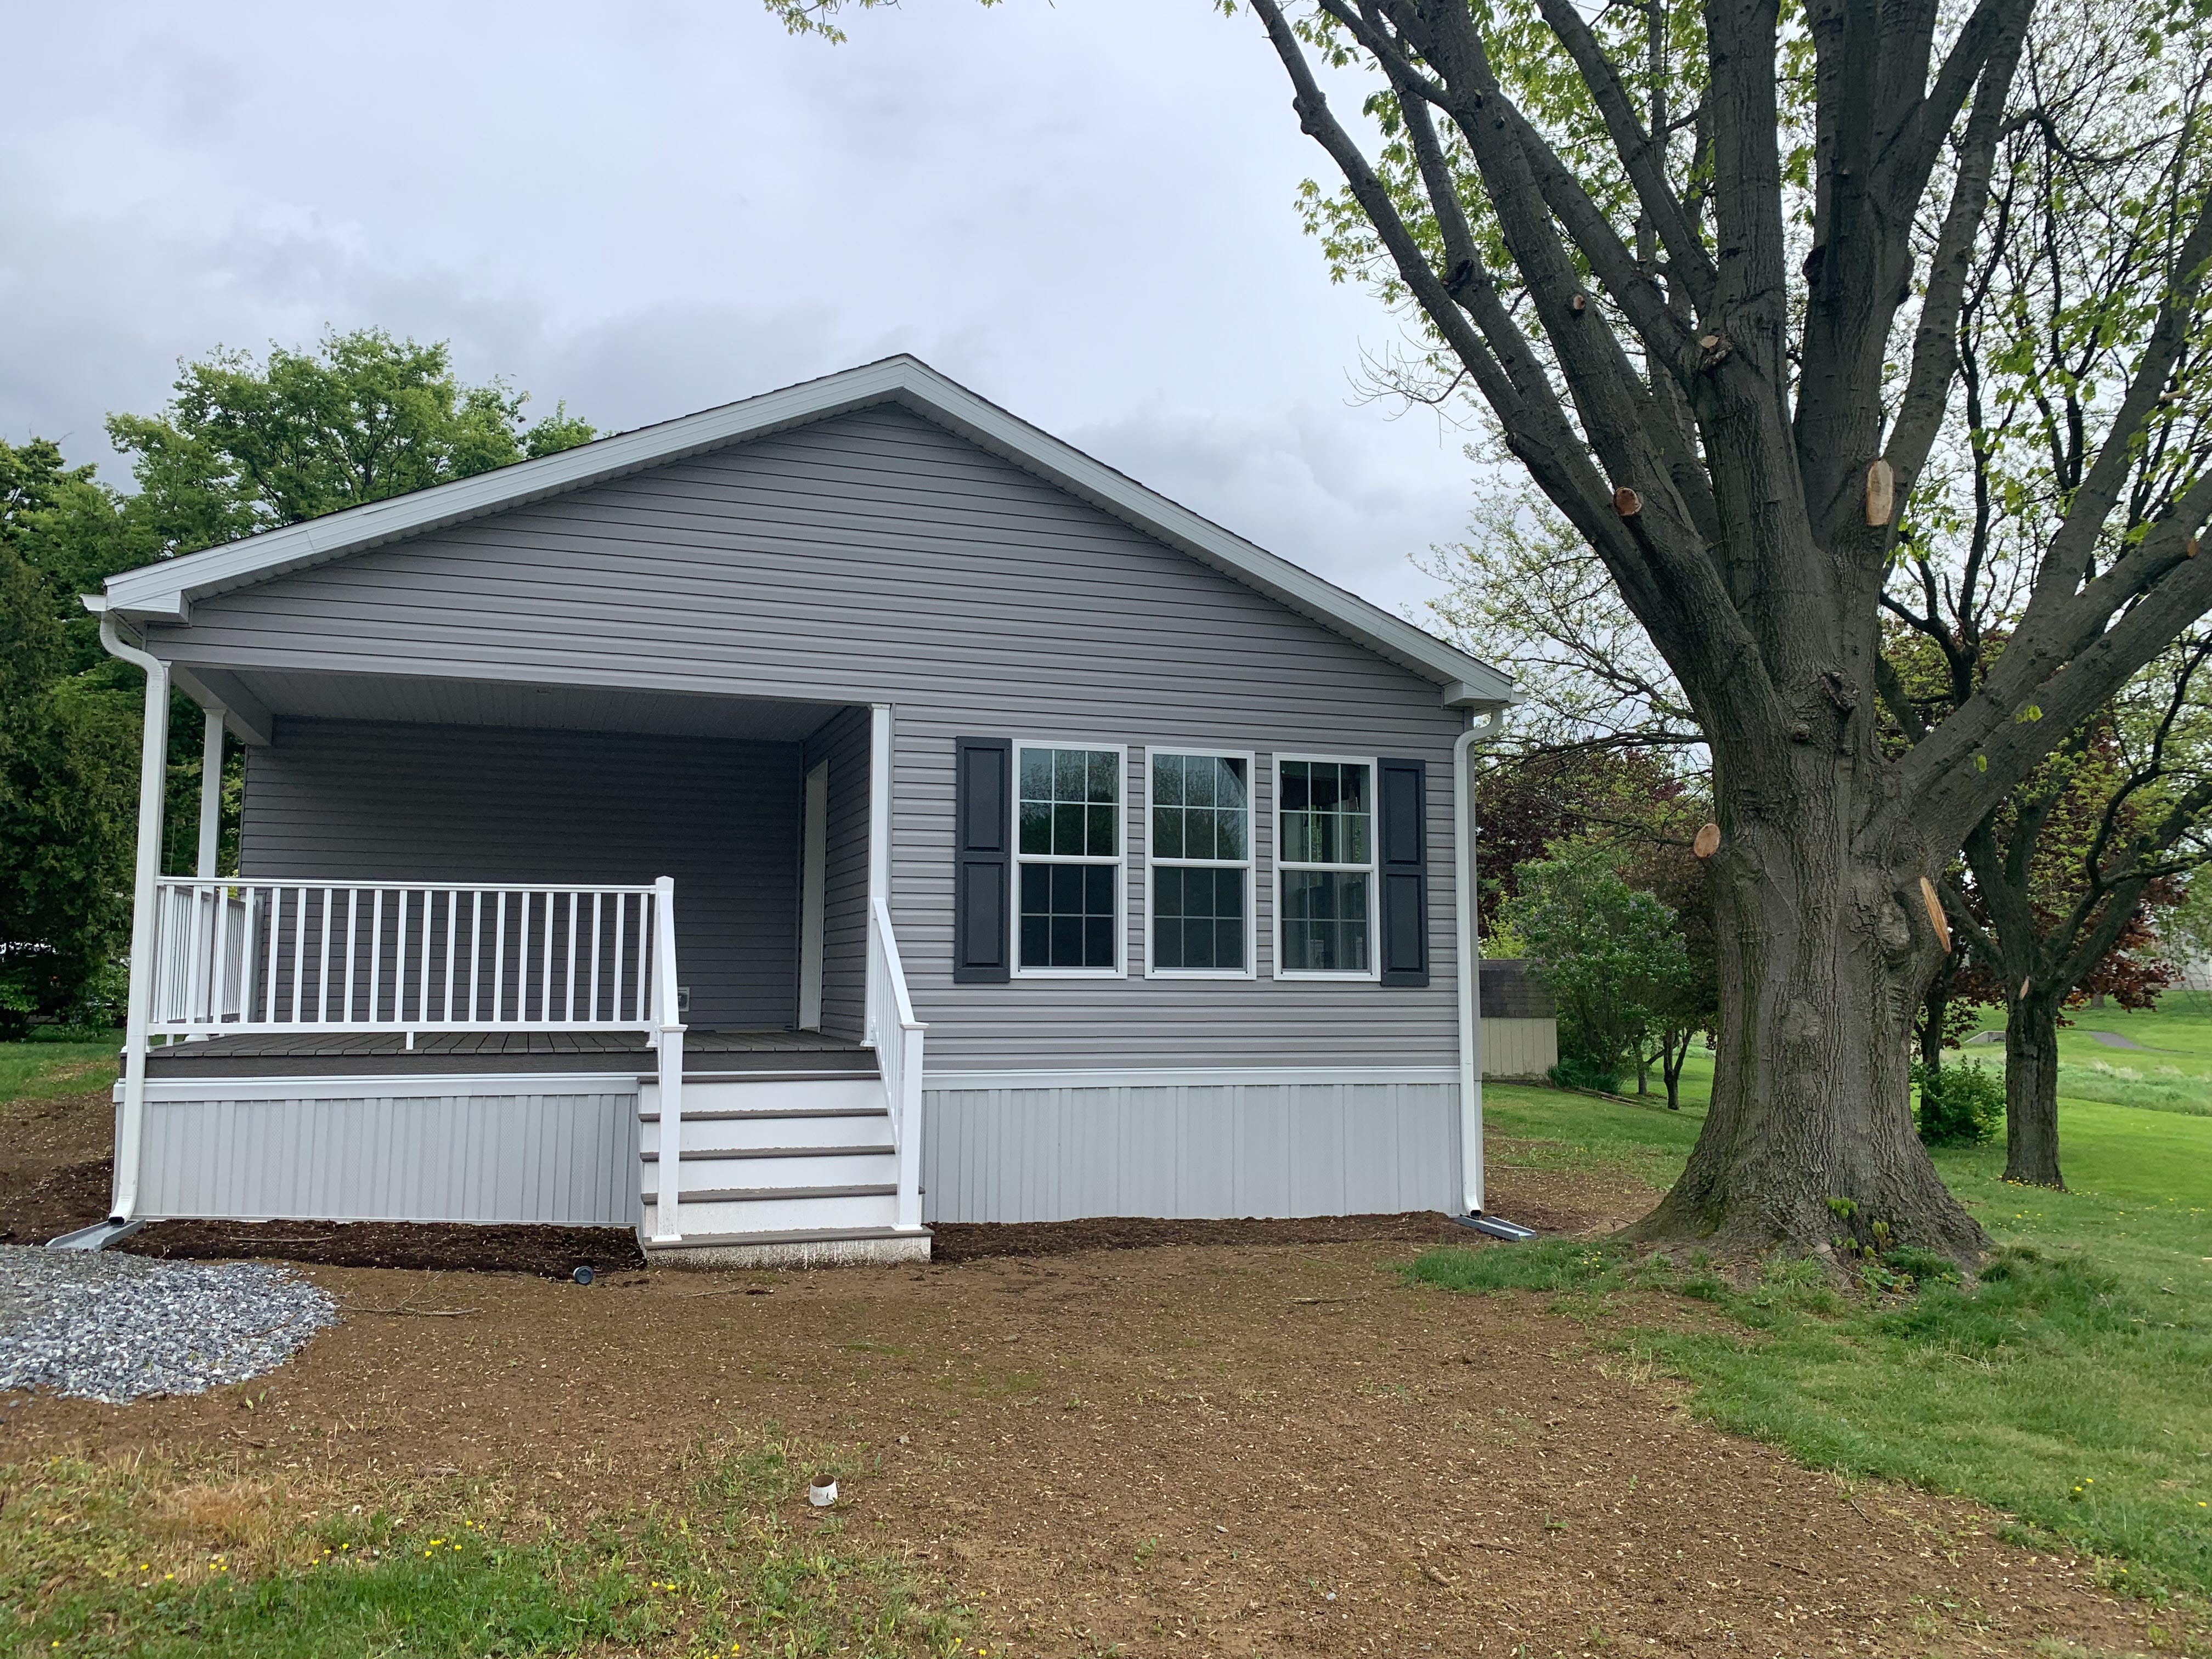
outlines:
{"label": "gray single-story house with covered porch and white front steps", "polygon": [[[117,575],[115,1217],[1482,1210],[1493,668],[898,356]],[[246,750],[164,874],[168,688]]]}

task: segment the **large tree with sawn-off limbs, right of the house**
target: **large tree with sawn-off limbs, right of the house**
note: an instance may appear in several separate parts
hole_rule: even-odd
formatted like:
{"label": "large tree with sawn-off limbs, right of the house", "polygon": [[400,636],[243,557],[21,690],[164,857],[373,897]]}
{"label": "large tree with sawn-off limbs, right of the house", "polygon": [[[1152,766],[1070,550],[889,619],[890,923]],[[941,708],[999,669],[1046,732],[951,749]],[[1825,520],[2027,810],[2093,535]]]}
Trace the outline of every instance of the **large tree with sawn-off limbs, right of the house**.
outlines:
{"label": "large tree with sawn-off limbs, right of the house", "polygon": [[[2035,0],[1814,0],[1787,24],[1772,0],[1250,4],[1343,173],[1338,246],[1358,259],[1371,228],[1387,283],[1604,560],[1712,752],[1712,1113],[1639,1232],[1823,1248],[1880,1221],[1973,1256],[1982,1230],[1907,1099],[1944,951],[1931,883],[2212,604],[2194,560],[2212,478],[2132,535],[2115,522],[2203,332],[2203,190],[2177,197],[2168,248],[2141,250],[2117,396],[2081,434],[2004,653],[1896,754],[1876,732],[1880,597],[1900,504],[1955,414],[2000,144],[2081,117],[2020,84]],[[1677,44],[1668,73],[1655,42]],[[1380,144],[1332,106],[1323,82],[1345,75],[1369,77]]]}

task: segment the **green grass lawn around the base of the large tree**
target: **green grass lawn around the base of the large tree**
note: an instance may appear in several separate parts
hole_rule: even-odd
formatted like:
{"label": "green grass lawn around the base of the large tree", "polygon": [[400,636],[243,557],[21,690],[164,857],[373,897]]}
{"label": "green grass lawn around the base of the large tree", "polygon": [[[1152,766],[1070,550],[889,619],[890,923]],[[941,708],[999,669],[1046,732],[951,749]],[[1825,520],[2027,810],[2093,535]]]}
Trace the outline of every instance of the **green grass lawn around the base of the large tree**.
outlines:
{"label": "green grass lawn around the base of the large tree", "polygon": [[[1482,1093],[1486,1130],[1522,1141],[1517,1161],[1601,1161],[1655,1183],[1703,1121],[1701,1106]],[[1688,1378],[1721,1427],[1816,1467],[1964,1493],[2108,1557],[2115,1584],[2212,1593],[2212,1117],[2062,1099],[2059,1148],[2070,1192],[2006,1186],[2000,1146],[1936,1155],[1997,1245],[1971,1290],[1838,1292],[1803,1263],[1739,1285],[1584,1243],[1438,1250],[1411,1272],[1557,1292],[1599,1340]],[[1728,1323],[1672,1321],[1679,1303],[1648,1292]],[[1621,1332],[1624,1318],[1637,1323]]]}

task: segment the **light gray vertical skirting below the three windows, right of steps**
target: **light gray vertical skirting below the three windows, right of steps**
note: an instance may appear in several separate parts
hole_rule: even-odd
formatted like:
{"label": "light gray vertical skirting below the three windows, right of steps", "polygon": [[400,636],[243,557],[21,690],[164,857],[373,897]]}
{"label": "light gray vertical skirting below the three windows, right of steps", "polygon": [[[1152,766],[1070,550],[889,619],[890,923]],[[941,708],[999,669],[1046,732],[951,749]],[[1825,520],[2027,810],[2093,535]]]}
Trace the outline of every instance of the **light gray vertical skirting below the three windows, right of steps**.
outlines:
{"label": "light gray vertical skirting below the three windows, right of steps", "polygon": [[1462,1208],[1458,1084],[1106,1084],[925,1095],[925,1221]]}

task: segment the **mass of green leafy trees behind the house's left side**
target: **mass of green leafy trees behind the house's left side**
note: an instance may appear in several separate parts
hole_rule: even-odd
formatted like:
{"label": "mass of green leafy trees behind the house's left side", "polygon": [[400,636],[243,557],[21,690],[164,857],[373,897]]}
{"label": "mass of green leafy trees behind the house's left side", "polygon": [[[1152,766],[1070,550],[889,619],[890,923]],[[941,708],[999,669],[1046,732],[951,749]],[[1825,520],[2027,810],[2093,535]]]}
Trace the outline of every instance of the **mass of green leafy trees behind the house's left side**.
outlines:
{"label": "mass of green leafy trees behind the house's left side", "polygon": [[[557,405],[465,385],[445,345],[383,330],[217,352],[184,365],[155,416],[111,416],[137,491],[119,495],[58,445],[0,445],[0,1035],[35,1018],[111,1020],[128,938],[139,684],[77,604],[117,571],[276,524],[551,456],[595,434]],[[170,706],[164,863],[197,841],[201,719]],[[237,761],[226,801],[237,801]],[[223,845],[234,845],[226,823]]]}

